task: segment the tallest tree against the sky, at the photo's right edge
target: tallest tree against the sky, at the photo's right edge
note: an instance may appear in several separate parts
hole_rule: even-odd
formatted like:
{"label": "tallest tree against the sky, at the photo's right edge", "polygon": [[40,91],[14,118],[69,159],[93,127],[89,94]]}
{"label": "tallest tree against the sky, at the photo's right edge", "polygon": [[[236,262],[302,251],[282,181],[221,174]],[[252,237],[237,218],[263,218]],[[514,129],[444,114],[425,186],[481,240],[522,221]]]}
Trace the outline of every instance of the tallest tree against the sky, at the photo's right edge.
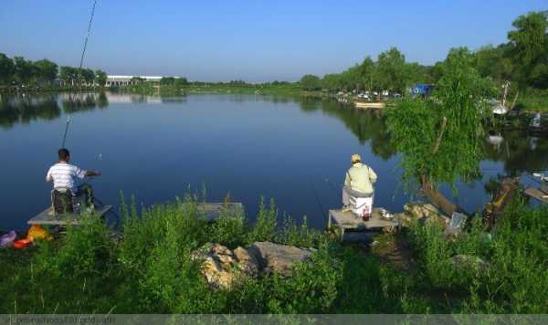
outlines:
{"label": "tallest tree against the sky, at the photo's right edge", "polygon": [[515,62],[514,75],[524,89],[537,79],[543,79],[543,71],[548,69],[539,68],[548,65],[548,21],[543,13],[532,12],[519,16],[512,26],[515,29],[508,32],[508,39]]}

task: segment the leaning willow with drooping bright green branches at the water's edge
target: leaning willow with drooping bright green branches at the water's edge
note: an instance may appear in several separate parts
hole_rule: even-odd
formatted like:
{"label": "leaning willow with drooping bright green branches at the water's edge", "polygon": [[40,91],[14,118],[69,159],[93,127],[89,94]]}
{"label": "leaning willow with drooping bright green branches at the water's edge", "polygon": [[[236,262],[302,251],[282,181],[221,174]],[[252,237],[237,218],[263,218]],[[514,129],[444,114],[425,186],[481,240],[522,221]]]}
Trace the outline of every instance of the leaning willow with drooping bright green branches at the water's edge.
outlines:
{"label": "leaning willow with drooping bright green branches at the water's edge", "polygon": [[458,207],[437,186],[479,174],[482,121],[489,115],[485,99],[492,94],[492,83],[473,67],[466,47],[451,49],[433,96],[404,100],[388,110],[388,130],[402,153],[406,183],[420,184],[448,215]]}

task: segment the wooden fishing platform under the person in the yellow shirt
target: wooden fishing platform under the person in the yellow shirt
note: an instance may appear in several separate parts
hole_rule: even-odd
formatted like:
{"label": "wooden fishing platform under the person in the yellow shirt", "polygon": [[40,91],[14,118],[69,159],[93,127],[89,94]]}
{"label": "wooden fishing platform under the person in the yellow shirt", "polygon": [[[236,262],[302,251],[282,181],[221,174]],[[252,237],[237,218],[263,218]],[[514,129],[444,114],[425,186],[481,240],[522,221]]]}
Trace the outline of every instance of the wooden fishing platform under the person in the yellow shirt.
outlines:
{"label": "wooden fishing platform under the person in the yellow shirt", "polygon": [[[381,209],[379,208],[373,209],[373,213],[368,221],[362,220],[361,217],[353,215],[350,211],[329,210],[327,226],[328,229],[334,227],[340,230],[341,241],[360,241],[359,238],[370,237],[374,231],[378,232],[385,228],[394,230],[399,228],[398,222],[394,219],[383,219],[381,217]],[[347,230],[353,230],[353,233],[346,233]],[[356,232],[362,232],[362,234],[355,234]]]}

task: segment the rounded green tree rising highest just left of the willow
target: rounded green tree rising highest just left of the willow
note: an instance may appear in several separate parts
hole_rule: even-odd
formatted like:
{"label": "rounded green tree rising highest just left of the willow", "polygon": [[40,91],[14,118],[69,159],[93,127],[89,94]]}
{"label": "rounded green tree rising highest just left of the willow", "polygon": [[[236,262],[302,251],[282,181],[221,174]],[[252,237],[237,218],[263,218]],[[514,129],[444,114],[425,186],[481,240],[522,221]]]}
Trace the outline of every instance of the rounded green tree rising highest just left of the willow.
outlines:
{"label": "rounded green tree rising highest just left of the willow", "polygon": [[395,47],[381,53],[375,76],[379,89],[402,92],[407,86],[406,57]]}

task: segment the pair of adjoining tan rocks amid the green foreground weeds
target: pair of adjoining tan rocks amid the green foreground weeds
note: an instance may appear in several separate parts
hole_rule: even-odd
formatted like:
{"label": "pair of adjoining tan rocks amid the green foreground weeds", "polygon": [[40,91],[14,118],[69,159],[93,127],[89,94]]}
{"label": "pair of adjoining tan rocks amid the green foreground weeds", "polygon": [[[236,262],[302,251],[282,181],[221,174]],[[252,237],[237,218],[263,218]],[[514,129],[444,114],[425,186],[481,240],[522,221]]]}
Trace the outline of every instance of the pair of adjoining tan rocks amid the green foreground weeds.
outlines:
{"label": "pair of adjoining tan rocks amid the green foreground weeds", "polygon": [[201,272],[207,283],[216,288],[230,288],[238,278],[256,278],[272,272],[290,275],[297,261],[311,256],[313,249],[256,242],[230,250],[219,244],[206,244],[192,254],[201,260]]}

